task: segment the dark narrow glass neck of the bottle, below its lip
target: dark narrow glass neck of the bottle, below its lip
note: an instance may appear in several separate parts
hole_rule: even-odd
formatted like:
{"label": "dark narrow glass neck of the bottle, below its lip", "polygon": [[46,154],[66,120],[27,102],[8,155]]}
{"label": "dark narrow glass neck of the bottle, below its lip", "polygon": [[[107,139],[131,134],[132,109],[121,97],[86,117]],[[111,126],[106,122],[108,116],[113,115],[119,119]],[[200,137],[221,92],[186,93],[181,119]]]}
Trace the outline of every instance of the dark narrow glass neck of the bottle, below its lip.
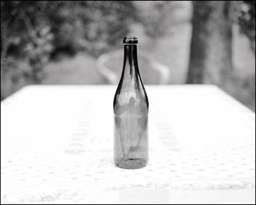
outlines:
{"label": "dark narrow glass neck of the bottle, below its lip", "polygon": [[130,77],[138,75],[137,45],[124,45],[123,72]]}

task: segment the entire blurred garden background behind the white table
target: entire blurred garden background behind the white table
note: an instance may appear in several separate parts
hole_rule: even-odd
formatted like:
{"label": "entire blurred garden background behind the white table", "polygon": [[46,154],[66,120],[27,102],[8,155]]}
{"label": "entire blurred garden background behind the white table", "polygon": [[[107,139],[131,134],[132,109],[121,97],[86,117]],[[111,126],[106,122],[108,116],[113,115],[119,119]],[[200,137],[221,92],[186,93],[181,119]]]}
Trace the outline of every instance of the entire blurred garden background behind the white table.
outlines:
{"label": "entire blurred garden background behind the white table", "polygon": [[255,111],[255,1],[1,1],[1,100],[25,85],[214,84]]}

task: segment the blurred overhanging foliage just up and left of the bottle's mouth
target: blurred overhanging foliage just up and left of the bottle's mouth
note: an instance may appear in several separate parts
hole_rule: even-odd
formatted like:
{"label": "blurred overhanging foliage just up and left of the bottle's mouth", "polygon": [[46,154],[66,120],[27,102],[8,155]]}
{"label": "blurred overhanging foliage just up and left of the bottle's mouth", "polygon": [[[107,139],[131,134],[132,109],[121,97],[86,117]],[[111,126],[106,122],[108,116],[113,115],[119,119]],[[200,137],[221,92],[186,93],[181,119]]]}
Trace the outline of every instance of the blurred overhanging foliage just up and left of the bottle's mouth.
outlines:
{"label": "blurred overhanging foliage just up and left of the bottle's mouth", "polygon": [[98,56],[120,44],[137,12],[131,1],[65,1],[49,18],[55,53]]}

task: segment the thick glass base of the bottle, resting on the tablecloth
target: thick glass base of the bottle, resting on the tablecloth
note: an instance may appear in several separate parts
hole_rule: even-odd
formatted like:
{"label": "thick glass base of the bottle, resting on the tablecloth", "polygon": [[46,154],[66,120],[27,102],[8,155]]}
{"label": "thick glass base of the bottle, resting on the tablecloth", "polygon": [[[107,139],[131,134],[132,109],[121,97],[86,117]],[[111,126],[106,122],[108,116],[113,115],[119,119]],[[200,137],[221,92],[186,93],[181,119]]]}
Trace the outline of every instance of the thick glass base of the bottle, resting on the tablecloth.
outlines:
{"label": "thick glass base of the bottle, resting on the tablecloth", "polygon": [[118,158],[115,160],[115,164],[121,169],[141,169],[146,167],[147,160],[143,158]]}

